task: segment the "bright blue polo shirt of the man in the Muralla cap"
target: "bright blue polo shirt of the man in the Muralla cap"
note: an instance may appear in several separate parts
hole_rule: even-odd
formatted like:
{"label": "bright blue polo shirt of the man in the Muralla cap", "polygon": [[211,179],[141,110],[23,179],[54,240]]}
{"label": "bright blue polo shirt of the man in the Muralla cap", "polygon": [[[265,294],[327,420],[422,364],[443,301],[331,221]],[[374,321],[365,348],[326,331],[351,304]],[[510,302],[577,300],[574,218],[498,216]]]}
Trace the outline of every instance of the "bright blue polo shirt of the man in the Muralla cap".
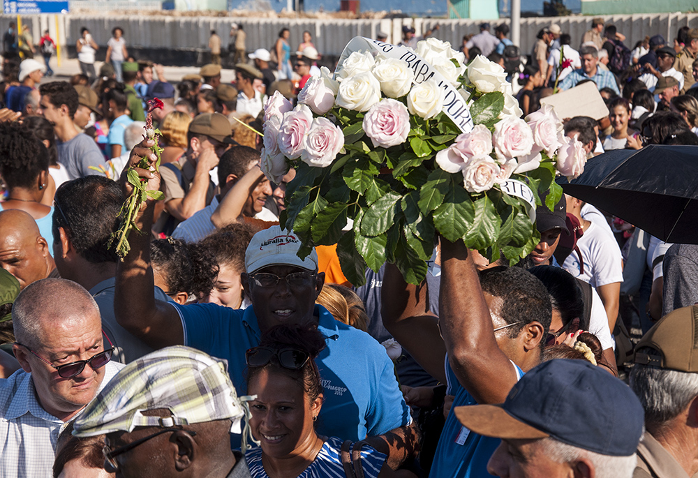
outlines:
{"label": "bright blue polo shirt of the man in the Muralla cap", "polygon": [[[182,318],[184,345],[228,360],[237,393],[246,395],[245,352],[259,345],[261,336],[254,308],[172,305]],[[318,330],[327,338],[327,347],[315,359],[325,394],[318,434],[356,441],[409,424],[410,410],[383,345],[334,320],[322,306],[315,306],[315,315],[320,318]]]}

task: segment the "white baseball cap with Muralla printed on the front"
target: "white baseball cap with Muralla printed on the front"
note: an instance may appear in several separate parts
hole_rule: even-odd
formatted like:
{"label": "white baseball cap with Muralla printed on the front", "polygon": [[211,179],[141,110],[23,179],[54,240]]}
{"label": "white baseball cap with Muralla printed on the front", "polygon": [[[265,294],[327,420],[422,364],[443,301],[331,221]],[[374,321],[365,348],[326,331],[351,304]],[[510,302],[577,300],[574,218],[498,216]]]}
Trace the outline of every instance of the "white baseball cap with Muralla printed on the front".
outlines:
{"label": "white baseball cap with Muralla printed on the front", "polygon": [[318,253],[315,248],[305,259],[298,257],[301,241],[293,231],[282,230],[278,225],[261,230],[252,237],[245,251],[247,274],[268,266],[294,266],[308,271],[318,270]]}

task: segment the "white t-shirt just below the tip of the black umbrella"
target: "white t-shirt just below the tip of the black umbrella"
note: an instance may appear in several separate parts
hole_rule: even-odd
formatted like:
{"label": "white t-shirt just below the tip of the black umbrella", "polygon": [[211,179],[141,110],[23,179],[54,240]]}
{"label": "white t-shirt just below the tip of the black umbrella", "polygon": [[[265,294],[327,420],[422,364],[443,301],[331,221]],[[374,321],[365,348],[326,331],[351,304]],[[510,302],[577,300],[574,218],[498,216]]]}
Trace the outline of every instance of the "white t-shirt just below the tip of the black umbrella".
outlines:
{"label": "white t-shirt just below the tip of the black umbrella", "polygon": [[623,282],[621,248],[602,226],[590,223],[584,235],[577,240],[577,246],[584,260],[584,274],[580,271],[577,251],[572,251],[563,262],[563,267],[572,276],[590,283],[592,287]]}

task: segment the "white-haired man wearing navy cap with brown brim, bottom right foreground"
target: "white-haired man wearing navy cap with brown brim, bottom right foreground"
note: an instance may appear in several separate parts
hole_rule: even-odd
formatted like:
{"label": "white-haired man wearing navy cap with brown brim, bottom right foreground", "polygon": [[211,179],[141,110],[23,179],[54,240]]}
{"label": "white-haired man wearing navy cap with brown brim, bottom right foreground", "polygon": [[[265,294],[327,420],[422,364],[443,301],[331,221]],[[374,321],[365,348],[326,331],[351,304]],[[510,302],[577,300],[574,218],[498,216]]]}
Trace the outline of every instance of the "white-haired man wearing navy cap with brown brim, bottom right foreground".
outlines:
{"label": "white-haired man wearing navy cap with brown brim, bottom right foreground", "polygon": [[632,390],[584,360],[547,361],[503,404],[454,413],[470,431],[502,439],[487,463],[498,477],[630,478],[643,432]]}

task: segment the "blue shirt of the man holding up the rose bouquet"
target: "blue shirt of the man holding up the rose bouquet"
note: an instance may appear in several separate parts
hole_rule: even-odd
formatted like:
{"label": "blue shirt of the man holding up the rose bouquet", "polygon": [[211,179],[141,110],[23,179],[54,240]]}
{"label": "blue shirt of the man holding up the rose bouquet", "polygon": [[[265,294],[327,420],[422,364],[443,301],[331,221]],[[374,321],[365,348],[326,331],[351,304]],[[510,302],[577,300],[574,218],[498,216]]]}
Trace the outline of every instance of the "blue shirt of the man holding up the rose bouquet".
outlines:
{"label": "blue shirt of the man holding up the rose bouquet", "polygon": [[[523,371],[519,366],[514,366],[521,379]],[[487,472],[487,462],[502,440],[477,435],[461,425],[454,413],[456,407],[475,405],[477,402],[461,386],[451,369],[448,356],[445,368],[448,382],[446,393],[456,398],[441,431],[429,478],[489,478],[491,475]]]}

